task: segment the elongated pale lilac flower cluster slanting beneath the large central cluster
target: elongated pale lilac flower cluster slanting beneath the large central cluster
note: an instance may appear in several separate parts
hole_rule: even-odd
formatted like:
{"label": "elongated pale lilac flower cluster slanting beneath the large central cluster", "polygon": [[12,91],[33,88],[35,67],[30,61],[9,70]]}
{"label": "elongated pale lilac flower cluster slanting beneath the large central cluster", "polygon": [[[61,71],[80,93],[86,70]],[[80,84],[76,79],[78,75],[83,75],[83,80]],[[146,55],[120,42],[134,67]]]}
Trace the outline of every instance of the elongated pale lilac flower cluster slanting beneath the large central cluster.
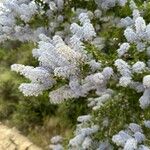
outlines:
{"label": "elongated pale lilac flower cluster slanting beneath the large central cluster", "polygon": [[[107,69],[107,68],[105,68]],[[106,71],[104,69],[104,71]],[[85,97],[91,90],[96,90],[97,95],[102,95],[107,91],[107,81],[112,76],[112,69],[108,67],[110,72],[95,73],[87,76],[79,83],[78,80],[70,80],[69,85],[50,92],[49,97],[52,103],[61,103],[63,100]]]}

